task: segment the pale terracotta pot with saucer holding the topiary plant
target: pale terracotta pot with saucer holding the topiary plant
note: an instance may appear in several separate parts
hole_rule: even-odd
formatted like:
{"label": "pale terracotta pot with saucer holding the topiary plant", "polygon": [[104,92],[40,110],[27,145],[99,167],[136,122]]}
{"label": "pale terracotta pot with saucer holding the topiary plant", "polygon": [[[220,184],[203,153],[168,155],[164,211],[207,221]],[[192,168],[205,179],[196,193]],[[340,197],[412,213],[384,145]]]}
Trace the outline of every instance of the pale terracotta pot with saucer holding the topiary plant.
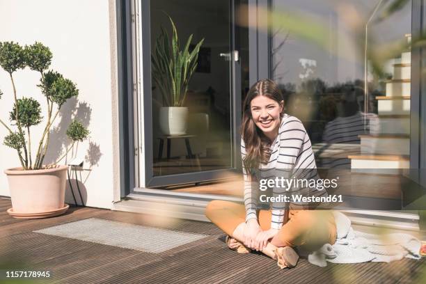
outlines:
{"label": "pale terracotta pot with saucer holding the topiary plant", "polygon": [[69,207],[64,203],[67,170],[68,166],[58,166],[45,170],[9,168],[4,171],[12,198],[8,213],[22,219],[63,214]]}

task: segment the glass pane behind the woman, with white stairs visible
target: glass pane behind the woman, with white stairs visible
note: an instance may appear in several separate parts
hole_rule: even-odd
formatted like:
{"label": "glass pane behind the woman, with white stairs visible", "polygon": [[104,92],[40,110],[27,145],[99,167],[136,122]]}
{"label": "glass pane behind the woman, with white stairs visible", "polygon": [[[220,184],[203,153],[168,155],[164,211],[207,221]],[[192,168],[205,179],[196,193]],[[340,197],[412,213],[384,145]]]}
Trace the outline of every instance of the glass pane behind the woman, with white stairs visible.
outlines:
{"label": "glass pane behind the woman, with white stairs visible", "polygon": [[[271,1],[271,77],[287,113],[305,125],[317,166],[340,171],[338,192],[357,204],[348,207],[401,208],[408,185],[397,174],[416,155],[410,147],[418,116],[411,110],[418,90],[411,83],[416,10],[411,1],[392,3]],[[295,18],[312,30],[294,29],[288,23]],[[343,173],[352,175],[343,180]]]}

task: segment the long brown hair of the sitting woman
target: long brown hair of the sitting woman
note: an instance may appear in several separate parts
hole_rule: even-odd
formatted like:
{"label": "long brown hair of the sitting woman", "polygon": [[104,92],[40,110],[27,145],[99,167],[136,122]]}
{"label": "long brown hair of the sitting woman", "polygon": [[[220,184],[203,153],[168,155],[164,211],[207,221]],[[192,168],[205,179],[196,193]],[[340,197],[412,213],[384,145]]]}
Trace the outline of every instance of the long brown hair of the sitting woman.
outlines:
{"label": "long brown hair of the sitting woman", "polygon": [[[281,93],[277,84],[269,79],[260,79],[248,90],[243,104],[243,121],[241,126],[242,139],[246,147],[246,156],[243,158],[243,166],[247,171],[259,168],[260,164],[267,164],[269,156],[271,155],[269,152],[271,141],[269,141],[262,130],[255,125],[253,117],[251,116],[251,100],[258,95],[265,95],[269,97],[269,99],[278,102],[278,104],[281,104],[281,101],[283,101],[283,93]],[[281,118],[283,115],[284,110],[281,112]]]}

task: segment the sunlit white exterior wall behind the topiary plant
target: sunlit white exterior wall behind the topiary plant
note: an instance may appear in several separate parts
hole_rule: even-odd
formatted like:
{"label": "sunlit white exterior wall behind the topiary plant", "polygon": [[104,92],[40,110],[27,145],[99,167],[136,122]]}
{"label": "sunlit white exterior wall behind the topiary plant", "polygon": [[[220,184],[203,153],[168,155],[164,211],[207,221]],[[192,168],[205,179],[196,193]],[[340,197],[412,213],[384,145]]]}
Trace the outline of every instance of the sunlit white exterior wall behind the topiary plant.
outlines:
{"label": "sunlit white exterior wall behind the topiary plant", "polygon": [[[79,88],[77,100],[65,104],[56,119],[58,128],[52,132],[45,161],[54,161],[68,145],[64,134],[70,120],[74,117],[81,120],[90,130],[90,139],[81,143],[76,152],[77,156],[86,157],[86,168],[91,166],[92,171],[81,175],[83,182],[86,180],[81,189],[86,205],[92,207],[110,208],[113,196],[119,197],[114,195],[119,191],[115,5],[114,0],[0,0],[0,42],[13,40],[21,45],[42,42],[54,55],[51,68]],[[36,87],[39,75],[27,68],[14,76],[18,96],[35,97],[42,103],[46,116],[45,98]],[[8,73],[1,68],[0,89],[4,93],[0,118],[8,121],[13,93]],[[40,137],[44,126],[42,123],[32,130],[33,141]],[[6,134],[4,127],[0,128],[2,170],[19,166],[15,150],[2,145]],[[0,195],[9,196],[3,173]],[[73,203],[69,189],[66,201]]]}

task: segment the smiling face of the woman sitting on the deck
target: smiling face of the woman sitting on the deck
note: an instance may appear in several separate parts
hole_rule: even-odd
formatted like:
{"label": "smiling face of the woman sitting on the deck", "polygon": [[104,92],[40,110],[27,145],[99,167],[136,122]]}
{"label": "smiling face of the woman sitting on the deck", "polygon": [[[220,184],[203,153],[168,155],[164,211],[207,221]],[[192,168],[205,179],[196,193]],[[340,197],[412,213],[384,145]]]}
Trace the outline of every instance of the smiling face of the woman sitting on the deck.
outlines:
{"label": "smiling face of the woman sitting on the deck", "polygon": [[258,95],[250,102],[251,116],[255,124],[271,140],[278,134],[283,107],[283,101],[278,104],[266,95]]}

